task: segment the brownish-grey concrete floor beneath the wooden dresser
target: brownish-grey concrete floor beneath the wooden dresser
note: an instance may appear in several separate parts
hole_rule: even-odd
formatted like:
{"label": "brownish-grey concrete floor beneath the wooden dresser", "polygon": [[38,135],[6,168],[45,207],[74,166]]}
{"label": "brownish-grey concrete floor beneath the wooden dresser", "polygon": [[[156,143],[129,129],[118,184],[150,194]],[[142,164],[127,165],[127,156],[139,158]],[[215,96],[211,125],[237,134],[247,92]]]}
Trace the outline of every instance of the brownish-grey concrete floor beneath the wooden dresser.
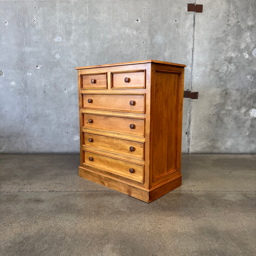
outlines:
{"label": "brownish-grey concrete floor beneath the wooden dresser", "polygon": [[256,155],[183,155],[183,185],[151,204],[78,165],[0,155],[1,256],[256,255]]}

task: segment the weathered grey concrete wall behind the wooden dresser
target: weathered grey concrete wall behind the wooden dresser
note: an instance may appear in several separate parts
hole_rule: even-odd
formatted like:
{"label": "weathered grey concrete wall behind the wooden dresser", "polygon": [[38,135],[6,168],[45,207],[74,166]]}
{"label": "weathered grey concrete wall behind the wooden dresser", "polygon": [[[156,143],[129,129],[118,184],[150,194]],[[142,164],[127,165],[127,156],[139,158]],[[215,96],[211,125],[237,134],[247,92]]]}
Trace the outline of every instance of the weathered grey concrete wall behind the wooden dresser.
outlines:
{"label": "weathered grey concrete wall behind the wooden dresser", "polygon": [[[75,67],[186,64],[183,153],[256,153],[256,0],[0,2],[0,152],[79,152]],[[251,111],[250,111],[251,110]]]}

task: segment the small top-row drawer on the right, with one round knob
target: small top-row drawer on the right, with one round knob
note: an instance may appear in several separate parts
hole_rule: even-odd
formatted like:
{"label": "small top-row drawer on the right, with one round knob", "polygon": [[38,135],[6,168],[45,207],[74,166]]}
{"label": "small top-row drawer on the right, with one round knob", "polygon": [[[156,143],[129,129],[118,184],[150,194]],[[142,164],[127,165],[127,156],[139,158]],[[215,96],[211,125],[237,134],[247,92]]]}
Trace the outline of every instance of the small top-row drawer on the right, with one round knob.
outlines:
{"label": "small top-row drawer on the right, with one round knob", "polygon": [[145,70],[111,73],[111,88],[145,88]]}

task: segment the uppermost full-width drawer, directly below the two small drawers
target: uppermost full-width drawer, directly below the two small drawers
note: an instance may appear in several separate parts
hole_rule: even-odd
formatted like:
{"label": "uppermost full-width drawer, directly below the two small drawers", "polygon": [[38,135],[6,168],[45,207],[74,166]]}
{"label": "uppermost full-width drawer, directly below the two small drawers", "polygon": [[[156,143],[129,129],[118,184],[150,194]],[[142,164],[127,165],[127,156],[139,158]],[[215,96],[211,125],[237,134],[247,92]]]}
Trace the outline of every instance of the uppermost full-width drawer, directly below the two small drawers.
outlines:
{"label": "uppermost full-width drawer, directly below the two small drawers", "polygon": [[145,113],[144,94],[81,94],[82,108]]}

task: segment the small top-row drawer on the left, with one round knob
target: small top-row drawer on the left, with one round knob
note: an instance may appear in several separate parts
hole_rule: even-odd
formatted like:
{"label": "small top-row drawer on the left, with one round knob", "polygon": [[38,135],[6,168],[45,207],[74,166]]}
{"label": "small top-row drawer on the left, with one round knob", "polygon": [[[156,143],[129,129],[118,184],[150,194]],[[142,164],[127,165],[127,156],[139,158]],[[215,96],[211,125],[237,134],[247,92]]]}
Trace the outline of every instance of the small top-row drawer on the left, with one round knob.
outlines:
{"label": "small top-row drawer on the left, with one round knob", "polygon": [[107,73],[81,75],[81,88],[107,89]]}

